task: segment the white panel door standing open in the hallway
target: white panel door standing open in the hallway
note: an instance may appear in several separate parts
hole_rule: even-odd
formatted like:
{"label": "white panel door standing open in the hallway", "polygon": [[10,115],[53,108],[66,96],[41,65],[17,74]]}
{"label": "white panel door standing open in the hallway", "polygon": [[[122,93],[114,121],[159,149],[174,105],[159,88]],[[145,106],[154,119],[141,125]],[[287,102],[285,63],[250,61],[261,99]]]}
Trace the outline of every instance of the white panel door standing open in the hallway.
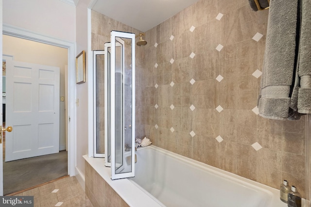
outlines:
{"label": "white panel door standing open in the hallway", "polygon": [[6,62],[5,161],[59,152],[59,67]]}

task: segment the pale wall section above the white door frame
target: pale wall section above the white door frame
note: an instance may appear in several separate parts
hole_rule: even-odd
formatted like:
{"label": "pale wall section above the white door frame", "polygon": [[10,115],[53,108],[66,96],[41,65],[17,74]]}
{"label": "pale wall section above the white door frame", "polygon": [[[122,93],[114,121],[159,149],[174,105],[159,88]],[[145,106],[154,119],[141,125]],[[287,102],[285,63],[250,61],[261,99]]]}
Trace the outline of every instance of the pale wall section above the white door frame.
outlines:
{"label": "pale wall section above the white door frame", "polygon": [[3,23],[75,42],[75,7],[60,0],[5,0]]}

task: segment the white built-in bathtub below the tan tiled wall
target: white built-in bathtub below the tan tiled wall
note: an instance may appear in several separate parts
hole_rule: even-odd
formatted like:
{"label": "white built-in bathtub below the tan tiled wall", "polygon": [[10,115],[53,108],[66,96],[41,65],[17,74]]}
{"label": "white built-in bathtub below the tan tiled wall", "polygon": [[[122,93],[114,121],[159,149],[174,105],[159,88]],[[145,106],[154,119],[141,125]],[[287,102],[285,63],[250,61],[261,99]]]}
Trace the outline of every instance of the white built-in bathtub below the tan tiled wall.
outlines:
{"label": "white built-in bathtub below the tan tiled wall", "polygon": [[278,190],[193,159],[155,146],[136,154],[135,177],[119,180],[84,157],[130,207],[287,207]]}

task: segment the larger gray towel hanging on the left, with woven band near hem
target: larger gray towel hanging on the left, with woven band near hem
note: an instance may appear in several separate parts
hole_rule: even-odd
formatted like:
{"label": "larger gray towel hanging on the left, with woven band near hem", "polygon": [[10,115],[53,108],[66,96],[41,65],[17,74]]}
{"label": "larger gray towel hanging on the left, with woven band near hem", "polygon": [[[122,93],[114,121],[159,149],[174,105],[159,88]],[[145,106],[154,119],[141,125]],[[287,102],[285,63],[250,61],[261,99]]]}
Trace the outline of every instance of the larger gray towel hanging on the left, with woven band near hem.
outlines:
{"label": "larger gray towel hanging on the left, with woven band near hem", "polygon": [[291,88],[295,68],[296,0],[270,2],[259,115],[285,120],[291,103]]}

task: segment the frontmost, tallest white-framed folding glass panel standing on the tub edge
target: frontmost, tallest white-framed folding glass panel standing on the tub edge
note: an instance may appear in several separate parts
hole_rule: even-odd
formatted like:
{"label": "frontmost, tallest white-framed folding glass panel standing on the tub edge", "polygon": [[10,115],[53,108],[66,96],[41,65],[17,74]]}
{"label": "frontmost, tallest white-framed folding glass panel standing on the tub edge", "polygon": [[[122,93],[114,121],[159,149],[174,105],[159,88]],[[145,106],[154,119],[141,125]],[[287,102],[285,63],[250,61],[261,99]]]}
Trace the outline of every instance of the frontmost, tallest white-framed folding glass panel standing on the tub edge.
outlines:
{"label": "frontmost, tallest white-framed folding glass panel standing on the tub edge", "polygon": [[135,34],[111,32],[111,179],[135,175]]}

